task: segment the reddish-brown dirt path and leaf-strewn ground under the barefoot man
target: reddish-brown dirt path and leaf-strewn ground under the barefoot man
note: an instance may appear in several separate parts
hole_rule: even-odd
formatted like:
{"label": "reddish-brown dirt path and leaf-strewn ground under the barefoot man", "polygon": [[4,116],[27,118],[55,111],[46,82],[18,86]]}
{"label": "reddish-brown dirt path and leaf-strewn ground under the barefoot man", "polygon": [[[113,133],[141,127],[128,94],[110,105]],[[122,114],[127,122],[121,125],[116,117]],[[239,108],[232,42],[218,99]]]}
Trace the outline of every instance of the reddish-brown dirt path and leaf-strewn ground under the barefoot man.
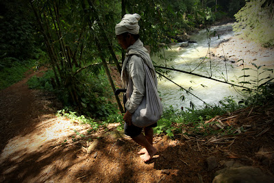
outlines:
{"label": "reddish-brown dirt path and leaf-strewn ground under the barefoot man", "polygon": [[[25,84],[35,74],[0,91],[0,182],[212,182],[227,160],[274,173],[273,103],[225,115],[224,125],[247,130],[234,136],[155,136],[158,156],[142,162],[118,124],[88,134],[89,125],[55,117],[62,106],[54,95]],[[210,156],[219,164],[212,171]]]}

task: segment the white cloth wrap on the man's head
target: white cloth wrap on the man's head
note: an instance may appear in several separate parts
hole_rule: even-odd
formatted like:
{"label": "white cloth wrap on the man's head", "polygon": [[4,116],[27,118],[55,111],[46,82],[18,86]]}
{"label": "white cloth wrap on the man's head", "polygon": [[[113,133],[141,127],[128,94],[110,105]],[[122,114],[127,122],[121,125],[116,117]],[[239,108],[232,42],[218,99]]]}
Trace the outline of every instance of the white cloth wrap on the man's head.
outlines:
{"label": "white cloth wrap on the man's head", "polygon": [[139,25],[138,21],[141,16],[139,14],[125,14],[122,21],[115,26],[115,34],[120,35],[125,32],[129,32],[131,34],[139,33]]}

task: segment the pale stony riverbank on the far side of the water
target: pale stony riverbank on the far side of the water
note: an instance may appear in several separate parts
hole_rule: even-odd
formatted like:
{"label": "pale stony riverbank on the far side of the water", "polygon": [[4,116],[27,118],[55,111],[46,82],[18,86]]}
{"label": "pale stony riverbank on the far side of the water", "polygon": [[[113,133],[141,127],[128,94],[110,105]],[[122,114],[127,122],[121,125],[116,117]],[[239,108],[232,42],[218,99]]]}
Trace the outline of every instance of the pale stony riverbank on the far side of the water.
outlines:
{"label": "pale stony riverbank on the far side of the water", "polygon": [[[244,40],[235,34],[228,39],[221,40],[221,43],[213,47],[211,51],[216,57],[225,56],[227,60],[237,62],[238,60],[244,60],[246,65],[252,63],[258,66],[274,66],[274,49],[262,47],[256,42]],[[242,61],[237,65],[241,65]]]}

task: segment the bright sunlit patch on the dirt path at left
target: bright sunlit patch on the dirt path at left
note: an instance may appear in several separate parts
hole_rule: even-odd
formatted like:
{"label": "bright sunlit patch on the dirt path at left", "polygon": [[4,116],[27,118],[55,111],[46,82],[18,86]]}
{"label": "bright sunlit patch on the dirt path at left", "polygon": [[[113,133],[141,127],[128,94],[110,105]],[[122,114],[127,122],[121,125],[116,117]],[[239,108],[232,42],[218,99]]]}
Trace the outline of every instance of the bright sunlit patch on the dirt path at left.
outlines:
{"label": "bright sunlit patch on the dirt path at left", "polygon": [[[70,136],[76,136],[75,131],[80,134],[86,133],[90,125],[79,125],[72,121],[58,117],[40,117],[40,123],[36,125],[35,129],[25,136],[15,136],[10,139],[8,144],[3,149],[0,156],[0,163],[7,158],[12,161],[18,161],[25,154],[31,154],[38,151],[43,145],[51,143],[51,145],[58,145],[66,141]],[[52,141],[55,141],[52,143]]]}

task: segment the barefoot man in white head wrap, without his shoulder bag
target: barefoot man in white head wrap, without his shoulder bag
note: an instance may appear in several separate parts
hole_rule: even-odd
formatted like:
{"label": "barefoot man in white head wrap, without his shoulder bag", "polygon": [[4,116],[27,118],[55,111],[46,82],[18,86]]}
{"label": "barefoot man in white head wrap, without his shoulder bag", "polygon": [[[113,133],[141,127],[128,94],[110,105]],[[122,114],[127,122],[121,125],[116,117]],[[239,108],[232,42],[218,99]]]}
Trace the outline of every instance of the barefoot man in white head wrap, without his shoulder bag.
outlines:
{"label": "barefoot man in white head wrap, without his shoulder bag", "polygon": [[[155,70],[149,56],[149,51],[145,49],[139,39],[139,14],[125,14],[120,23],[115,26],[115,34],[119,40],[119,45],[127,51],[122,67],[122,84],[123,88],[127,88],[129,80],[132,80],[132,94],[127,92],[127,101],[125,103],[125,134],[130,136],[136,143],[145,147],[138,154],[142,154],[140,158],[147,162],[157,153],[157,149],[153,147],[153,129],[157,126],[157,121],[153,125],[147,127],[137,127],[132,124],[132,114],[142,102],[145,96],[145,68],[147,64],[149,71],[153,77],[155,86],[158,81]],[[144,129],[145,135],[142,134]]]}

